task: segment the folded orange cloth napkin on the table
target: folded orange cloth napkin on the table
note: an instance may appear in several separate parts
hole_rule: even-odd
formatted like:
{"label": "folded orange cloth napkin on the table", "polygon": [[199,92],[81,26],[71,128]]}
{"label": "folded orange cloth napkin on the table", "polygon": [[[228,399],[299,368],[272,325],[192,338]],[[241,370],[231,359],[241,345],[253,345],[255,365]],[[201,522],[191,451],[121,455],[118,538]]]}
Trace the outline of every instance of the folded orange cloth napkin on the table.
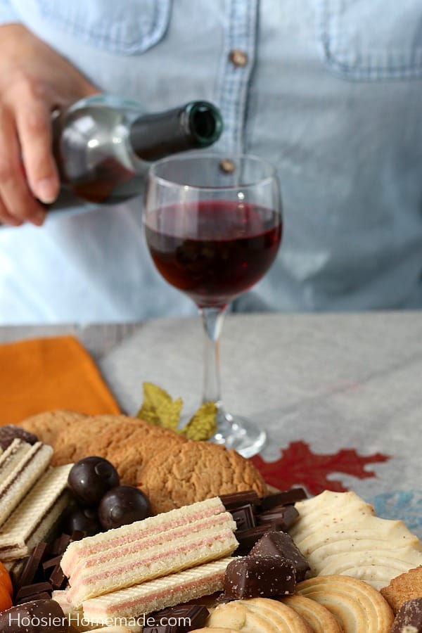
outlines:
{"label": "folded orange cloth napkin on the table", "polygon": [[0,426],[53,409],[91,415],[120,413],[77,338],[58,336],[0,345]]}

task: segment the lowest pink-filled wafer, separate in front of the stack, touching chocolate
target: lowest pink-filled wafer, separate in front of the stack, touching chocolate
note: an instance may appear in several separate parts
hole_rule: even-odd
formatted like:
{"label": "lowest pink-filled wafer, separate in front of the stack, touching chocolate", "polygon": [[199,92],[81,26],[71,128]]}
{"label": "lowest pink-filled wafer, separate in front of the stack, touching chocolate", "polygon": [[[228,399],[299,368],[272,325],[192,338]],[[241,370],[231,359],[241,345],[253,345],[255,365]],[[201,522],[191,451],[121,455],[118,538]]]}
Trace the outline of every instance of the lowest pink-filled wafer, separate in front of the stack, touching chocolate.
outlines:
{"label": "lowest pink-filled wafer, separate in front of the stack, touching chocolate", "polygon": [[84,618],[101,624],[111,618],[139,618],[143,613],[174,606],[182,602],[222,591],[224,572],[233,558],[205,563],[136,587],[91,598],[82,604]]}

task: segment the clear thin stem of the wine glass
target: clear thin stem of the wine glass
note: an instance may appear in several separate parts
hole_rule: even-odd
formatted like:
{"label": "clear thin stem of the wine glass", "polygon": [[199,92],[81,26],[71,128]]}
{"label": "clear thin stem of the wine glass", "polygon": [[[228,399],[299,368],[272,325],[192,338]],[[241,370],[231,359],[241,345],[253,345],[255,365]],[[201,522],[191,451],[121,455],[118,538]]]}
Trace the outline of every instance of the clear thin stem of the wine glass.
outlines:
{"label": "clear thin stem of the wine glass", "polygon": [[222,407],[219,341],[225,314],[225,307],[200,308],[200,316],[202,317],[205,332],[203,402],[215,402],[217,409]]}

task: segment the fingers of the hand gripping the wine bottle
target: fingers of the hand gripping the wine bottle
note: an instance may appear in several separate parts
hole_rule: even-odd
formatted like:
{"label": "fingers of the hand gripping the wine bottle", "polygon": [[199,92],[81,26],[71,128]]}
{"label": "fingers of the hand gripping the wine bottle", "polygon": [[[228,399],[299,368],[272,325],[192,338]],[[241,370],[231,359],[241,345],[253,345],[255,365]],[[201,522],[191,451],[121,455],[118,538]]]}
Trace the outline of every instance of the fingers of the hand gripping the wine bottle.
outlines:
{"label": "fingers of the hand gripping the wine bottle", "polygon": [[49,103],[39,86],[21,77],[0,107],[0,222],[41,225],[45,209],[36,198],[53,202],[59,186]]}

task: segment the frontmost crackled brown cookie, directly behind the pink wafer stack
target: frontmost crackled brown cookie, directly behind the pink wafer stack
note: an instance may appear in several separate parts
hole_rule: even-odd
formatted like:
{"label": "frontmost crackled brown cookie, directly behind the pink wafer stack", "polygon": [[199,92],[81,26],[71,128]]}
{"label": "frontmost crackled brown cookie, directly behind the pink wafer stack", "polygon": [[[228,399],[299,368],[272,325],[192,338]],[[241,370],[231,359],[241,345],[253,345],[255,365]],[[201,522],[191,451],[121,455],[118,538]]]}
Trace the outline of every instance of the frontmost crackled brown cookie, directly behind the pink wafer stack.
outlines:
{"label": "frontmost crackled brown cookie, directly behind the pink wafer stack", "polygon": [[151,500],[154,513],[229,492],[256,490],[267,494],[262,475],[234,450],[188,440],[153,456],[136,482]]}

